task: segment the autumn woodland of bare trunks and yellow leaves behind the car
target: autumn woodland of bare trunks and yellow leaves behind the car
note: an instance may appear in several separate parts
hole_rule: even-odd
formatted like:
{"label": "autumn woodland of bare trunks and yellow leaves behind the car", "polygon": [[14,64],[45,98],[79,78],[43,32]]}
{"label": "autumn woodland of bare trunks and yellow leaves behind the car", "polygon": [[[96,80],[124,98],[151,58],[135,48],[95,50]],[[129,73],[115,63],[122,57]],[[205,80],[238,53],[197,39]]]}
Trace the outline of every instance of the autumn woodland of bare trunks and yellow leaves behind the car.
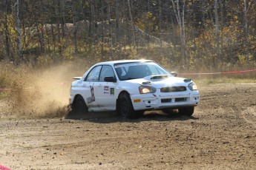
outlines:
{"label": "autumn woodland of bare trunks and yellow leaves behind the car", "polygon": [[1,0],[0,60],[149,58],[252,67],[255,0]]}

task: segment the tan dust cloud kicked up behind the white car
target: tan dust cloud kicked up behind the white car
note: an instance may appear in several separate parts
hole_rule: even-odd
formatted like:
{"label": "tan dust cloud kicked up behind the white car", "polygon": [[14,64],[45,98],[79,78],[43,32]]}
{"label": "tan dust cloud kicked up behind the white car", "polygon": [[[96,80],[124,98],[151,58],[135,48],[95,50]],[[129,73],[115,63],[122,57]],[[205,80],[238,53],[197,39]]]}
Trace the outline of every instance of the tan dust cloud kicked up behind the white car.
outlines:
{"label": "tan dust cloud kicked up behind the white car", "polygon": [[65,118],[73,77],[82,76],[88,67],[72,62],[47,69],[19,69],[6,69],[12,90],[0,98],[0,118]]}

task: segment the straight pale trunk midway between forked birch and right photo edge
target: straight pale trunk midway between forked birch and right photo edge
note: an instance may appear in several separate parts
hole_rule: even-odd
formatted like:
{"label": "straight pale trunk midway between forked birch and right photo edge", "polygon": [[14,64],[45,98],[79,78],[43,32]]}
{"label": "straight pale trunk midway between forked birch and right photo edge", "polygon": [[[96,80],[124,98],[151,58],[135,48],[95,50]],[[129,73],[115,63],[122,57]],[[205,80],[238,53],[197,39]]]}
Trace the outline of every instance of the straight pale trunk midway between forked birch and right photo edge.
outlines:
{"label": "straight pale trunk midway between forked birch and right photo edge", "polygon": [[216,55],[217,55],[217,66],[220,62],[220,37],[219,37],[219,16],[217,13],[218,2],[214,0],[214,15],[215,15],[215,38],[216,38]]}

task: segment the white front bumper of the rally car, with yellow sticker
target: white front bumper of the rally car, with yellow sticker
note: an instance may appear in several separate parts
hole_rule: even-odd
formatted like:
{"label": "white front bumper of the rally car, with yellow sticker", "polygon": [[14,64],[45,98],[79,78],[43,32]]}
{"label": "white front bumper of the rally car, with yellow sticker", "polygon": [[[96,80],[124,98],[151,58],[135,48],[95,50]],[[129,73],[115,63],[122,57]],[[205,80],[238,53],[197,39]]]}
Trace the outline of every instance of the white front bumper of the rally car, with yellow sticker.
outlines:
{"label": "white front bumper of the rally car, with yellow sticker", "polygon": [[159,94],[131,95],[134,110],[151,110],[164,108],[180,108],[183,106],[197,106],[200,95],[197,90],[186,92],[168,92]]}

